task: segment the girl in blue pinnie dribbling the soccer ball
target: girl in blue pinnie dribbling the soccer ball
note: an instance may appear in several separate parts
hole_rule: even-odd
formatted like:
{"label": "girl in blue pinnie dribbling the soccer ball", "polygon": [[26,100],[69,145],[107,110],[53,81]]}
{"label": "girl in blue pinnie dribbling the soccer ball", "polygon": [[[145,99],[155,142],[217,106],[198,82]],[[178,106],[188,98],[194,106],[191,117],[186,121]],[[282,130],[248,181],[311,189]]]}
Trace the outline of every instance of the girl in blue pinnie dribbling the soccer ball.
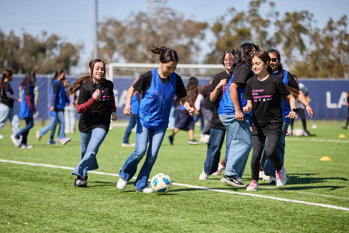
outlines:
{"label": "girl in blue pinnie dribbling the soccer ball", "polygon": [[[143,91],[139,110],[136,116],[136,148],[128,157],[120,170],[118,189],[125,189],[137,171],[140,160],[147,152],[143,166],[134,182],[137,192],[153,192],[147,184],[151,168],[155,163],[159,148],[169,125],[170,110],[174,95],[177,95],[191,116],[194,108],[186,100],[187,92],[182,79],[174,73],[178,63],[177,52],[166,47],[154,47],[153,53],[160,54],[160,67],[144,73],[141,78],[128,89],[125,115],[135,114],[131,108],[131,98],[135,91]],[[147,150],[147,144],[149,147]]]}

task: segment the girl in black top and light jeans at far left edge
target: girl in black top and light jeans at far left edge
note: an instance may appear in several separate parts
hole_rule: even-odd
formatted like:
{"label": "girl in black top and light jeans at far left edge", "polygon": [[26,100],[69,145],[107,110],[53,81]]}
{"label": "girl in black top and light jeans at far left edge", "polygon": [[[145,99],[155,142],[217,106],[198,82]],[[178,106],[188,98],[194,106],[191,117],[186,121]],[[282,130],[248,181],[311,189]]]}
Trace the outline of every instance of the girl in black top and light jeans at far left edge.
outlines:
{"label": "girl in black top and light jeans at far left edge", "polygon": [[13,89],[10,86],[12,79],[12,71],[5,70],[2,72],[2,79],[0,80],[0,130],[5,125],[7,119],[9,119],[12,126],[12,133],[15,135],[20,131],[20,119],[13,108],[13,102],[14,100],[21,102],[21,99],[13,95]]}

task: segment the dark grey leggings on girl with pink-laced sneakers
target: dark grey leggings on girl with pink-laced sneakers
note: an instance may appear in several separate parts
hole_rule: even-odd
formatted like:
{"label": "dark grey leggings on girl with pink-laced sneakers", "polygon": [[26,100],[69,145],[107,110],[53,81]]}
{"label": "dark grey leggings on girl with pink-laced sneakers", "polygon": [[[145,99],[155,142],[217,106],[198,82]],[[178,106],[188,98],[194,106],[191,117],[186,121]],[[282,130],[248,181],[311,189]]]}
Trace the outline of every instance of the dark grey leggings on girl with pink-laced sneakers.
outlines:
{"label": "dark grey leggings on girl with pink-laced sneakers", "polygon": [[275,170],[281,170],[281,161],[279,155],[276,154],[276,146],[280,136],[269,134],[268,136],[252,135],[252,160],[251,160],[251,176],[252,180],[259,179],[259,166],[263,151],[263,142],[265,141],[265,153],[273,163]]}

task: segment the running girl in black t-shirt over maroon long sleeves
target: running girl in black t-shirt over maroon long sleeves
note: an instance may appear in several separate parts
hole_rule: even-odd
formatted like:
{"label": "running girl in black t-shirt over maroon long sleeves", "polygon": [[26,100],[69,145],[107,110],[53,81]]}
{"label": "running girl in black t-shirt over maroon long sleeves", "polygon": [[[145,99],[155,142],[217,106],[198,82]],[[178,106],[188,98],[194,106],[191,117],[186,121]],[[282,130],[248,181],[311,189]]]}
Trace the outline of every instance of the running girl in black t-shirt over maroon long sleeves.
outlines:
{"label": "running girl in black t-shirt over maroon long sleeves", "polygon": [[72,172],[76,175],[75,187],[87,186],[87,172],[98,168],[96,155],[109,131],[110,116],[113,121],[118,118],[114,85],[105,79],[104,61],[90,61],[88,70],[90,75],[78,78],[69,87],[72,94],[80,90],[76,110],[80,113],[81,161]]}

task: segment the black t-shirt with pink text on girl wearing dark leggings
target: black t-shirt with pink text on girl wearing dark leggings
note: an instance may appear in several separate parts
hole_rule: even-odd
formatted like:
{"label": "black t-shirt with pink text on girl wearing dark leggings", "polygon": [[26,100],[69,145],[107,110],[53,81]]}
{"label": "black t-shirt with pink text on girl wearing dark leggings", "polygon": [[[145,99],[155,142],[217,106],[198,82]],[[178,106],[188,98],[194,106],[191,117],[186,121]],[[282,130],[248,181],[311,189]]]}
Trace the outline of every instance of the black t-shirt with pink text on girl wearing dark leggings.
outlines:
{"label": "black t-shirt with pink text on girl wearing dark leggings", "polygon": [[247,80],[244,99],[252,101],[252,135],[280,136],[283,118],[281,97],[290,95],[283,81],[274,74],[260,81],[257,76]]}

